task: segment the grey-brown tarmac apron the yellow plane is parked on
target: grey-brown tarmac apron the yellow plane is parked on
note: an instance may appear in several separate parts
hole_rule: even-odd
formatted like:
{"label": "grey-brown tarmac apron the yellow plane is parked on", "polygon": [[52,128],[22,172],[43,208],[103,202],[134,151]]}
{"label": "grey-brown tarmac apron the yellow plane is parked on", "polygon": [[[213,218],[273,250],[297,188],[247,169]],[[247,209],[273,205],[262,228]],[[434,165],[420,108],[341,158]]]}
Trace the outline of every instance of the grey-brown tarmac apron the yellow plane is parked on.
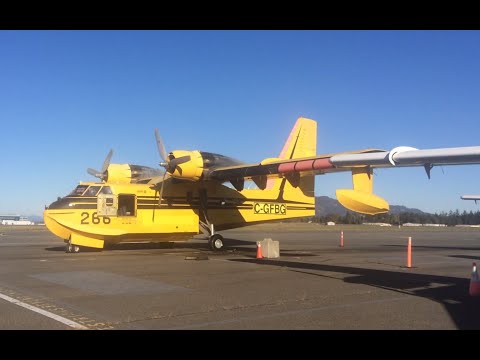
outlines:
{"label": "grey-brown tarmac apron the yellow plane is parked on", "polygon": [[[199,236],[70,254],[45,227],[0,226],[0,329],[480,329],[480,297],[469,295],[480,229],[280,223],[221,234],[221,252]],[[256,258],[264,238],[280,242],[279,258]]]}

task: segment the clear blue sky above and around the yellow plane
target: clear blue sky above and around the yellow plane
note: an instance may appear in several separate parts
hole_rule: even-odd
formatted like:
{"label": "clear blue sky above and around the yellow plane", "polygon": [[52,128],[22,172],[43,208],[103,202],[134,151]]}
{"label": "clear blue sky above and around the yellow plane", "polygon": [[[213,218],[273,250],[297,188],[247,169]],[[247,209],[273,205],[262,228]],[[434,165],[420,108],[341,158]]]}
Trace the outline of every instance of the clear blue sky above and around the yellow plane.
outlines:
{"label": "clear blue sky above and around the yellow plane", "polygon": [[[480,145],[480,31],[0,31],[0,213],[44,205],[112,162],[168,151],[258,162],[299,116],[317,153]],[[427,212],[480,210],[480,165],[375,171],[374,193]],[[351,188],[317,176],[316,195]]]}

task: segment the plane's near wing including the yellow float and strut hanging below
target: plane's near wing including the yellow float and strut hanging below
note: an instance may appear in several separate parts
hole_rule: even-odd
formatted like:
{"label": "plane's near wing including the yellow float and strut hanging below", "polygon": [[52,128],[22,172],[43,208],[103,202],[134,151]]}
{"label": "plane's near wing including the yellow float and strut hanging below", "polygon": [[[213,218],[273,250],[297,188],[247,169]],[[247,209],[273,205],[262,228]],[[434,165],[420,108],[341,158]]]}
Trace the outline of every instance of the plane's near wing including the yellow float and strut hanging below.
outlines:
{"label": "plane's near wing including the yellow float and strut hanging below", "polygon": [[260,164],[217,168],[207,174],[210,179],[229,180],[241,191],[244,179],[252,179],[260,189],[267,178],[285,177],[293,187],[309,174],[351,171],[353,189],[337,189],[337,200],[349,210],[363,214],[380,214],[389,210],[388,202],[373,194],[373,169],[424,166],[428,177],[435,165],[480,164],[480,146],[418,150],[397,147],[391,151],[367,149],[351,153],[320,155],[310,158],[264,160]]}

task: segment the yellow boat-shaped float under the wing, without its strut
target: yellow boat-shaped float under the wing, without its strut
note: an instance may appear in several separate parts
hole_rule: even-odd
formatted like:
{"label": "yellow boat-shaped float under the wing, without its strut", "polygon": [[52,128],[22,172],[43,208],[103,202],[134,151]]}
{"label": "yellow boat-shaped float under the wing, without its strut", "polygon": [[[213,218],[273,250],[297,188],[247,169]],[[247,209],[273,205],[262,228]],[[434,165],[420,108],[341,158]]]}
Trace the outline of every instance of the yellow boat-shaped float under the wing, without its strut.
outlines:
{"label": "yellow boat-shaped float under the wing, without its strut", "polygon": [[338,189],[336,195],[340,204],[361,214],[382,214],[390,209],[384,199],[371,193],[352,189]]}

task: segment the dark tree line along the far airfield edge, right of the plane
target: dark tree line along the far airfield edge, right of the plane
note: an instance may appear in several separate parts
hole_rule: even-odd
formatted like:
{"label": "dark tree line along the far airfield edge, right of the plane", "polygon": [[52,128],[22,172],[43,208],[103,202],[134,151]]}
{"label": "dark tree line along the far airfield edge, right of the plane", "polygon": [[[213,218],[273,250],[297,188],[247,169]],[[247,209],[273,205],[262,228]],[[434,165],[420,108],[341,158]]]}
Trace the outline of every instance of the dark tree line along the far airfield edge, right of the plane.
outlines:
{"label": "dark tree line along the far airfield edge, right of the plane", "polygon": [[363,215],[347,211],[345,215],[328,214],[325,216],[304,218],[301,221],[312,221],[318,223],[327,223],[329,221],[333,221],[336,224],[362,224],[365,222],[378,222],[392,225],[402,225],[405,223],[445,224],[447,226],[479,225],[480,211],[463,211],[460,213],[458,210],[456,210],[449,211],[448,213],[441,212],[440,214],[402,212],[399,214],[386,213],[378,215]]}

